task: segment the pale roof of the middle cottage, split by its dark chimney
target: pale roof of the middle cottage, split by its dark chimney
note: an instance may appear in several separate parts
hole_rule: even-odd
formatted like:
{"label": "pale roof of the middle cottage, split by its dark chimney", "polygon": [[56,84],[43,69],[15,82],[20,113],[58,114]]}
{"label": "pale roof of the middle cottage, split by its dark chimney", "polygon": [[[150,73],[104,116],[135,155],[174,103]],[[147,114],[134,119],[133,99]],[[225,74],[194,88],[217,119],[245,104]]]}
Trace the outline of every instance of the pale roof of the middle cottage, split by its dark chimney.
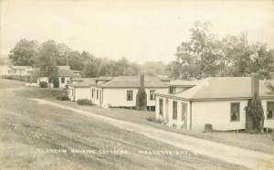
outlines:
{"label": "pale roof of the middle cottage, split by its dark chimney", "polygon": [[[139,88],[139,76],[120,76],[106,83],[100,84],[102,88]],[[164,88],[165,82],[159,77],[144,77],[144,87],[148,88]]]}

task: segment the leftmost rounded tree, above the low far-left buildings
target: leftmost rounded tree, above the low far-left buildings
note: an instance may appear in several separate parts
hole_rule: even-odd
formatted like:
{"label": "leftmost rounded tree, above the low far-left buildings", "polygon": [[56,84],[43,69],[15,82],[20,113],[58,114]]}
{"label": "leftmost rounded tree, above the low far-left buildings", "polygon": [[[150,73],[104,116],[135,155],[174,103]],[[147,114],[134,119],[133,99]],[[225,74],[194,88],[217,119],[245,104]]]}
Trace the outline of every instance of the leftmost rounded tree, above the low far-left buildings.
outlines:
{"label": "leftmost rounded tree, above the low far-left buildings", "polygon": [[36,40],[21,39],[10,50],[9,58],[16,66],[33,66],[37,58],[39,44]]}

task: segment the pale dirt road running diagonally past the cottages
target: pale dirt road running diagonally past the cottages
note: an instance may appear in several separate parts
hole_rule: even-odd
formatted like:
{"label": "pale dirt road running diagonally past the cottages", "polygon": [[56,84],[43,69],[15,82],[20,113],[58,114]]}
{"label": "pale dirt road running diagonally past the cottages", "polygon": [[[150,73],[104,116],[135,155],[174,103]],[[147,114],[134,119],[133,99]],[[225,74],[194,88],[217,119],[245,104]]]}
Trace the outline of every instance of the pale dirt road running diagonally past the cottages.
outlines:
{"label": "pale dirt road running diagonally past the cottages", "polygon": [[163,131],[144,124],[125,122],[114,118],[98,115],[92,112],[80,111],[78,109],[63,106],[61,104],[51,101],[45,101],[40,99],[30,100],[38,101],[40,104],[50,104],[62,109],[67,109],[72,112],[78,112],[94,119],[98,119],[102,122],[110,123],[111,125],[119,127],[121,129],[125,129],[134,133],[141,133],[146,137],[152,138],[154,140],[158,140],[163,143],[169,143],[176,147],[190,150],[195,154],[204,154],[227,161],[228,163],[232,163],[235,165],[243,165],[251,169],[258,169],[258,165],[274,159],[273,154],[264,154],[256,151],[238,148],[235,146],[230,146],[223,143],[210,142],[180,133]]}

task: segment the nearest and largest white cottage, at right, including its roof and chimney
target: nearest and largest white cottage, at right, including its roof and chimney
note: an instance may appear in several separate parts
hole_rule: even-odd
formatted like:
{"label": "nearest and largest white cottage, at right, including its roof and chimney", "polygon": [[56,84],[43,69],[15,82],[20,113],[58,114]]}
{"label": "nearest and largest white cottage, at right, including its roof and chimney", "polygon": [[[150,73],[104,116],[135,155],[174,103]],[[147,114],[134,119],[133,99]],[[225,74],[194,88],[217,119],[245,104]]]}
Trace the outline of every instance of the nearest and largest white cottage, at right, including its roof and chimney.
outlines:
{"label": "nearest and largest white cottage, at right, including its roof and chimney", "polygon": [[274,128],[274,96],[267,94],[265,83],[258,75],[174,81],[168,90],[155,93],[156,118],[201,132],[206,123],[216,131],[246,129],[245,107],[258,93],[265,112],[264,127]]}

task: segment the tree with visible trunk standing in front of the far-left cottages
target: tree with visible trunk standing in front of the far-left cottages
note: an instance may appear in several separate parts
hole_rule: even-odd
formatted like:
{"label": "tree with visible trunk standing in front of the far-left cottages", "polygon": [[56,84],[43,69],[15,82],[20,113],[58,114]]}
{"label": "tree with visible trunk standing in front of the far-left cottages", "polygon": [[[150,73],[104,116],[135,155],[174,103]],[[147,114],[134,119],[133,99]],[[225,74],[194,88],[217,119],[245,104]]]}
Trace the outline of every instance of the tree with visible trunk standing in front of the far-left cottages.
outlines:
{"label": "tree with visible trunk standing in front of the far-left cottages", "polygon": [[58,77],[57,57],[58,47],[54,40],[44,42],[39,48],[36,65],[39,68],[39,77],[48,80],[49,93],[53,80]]}

